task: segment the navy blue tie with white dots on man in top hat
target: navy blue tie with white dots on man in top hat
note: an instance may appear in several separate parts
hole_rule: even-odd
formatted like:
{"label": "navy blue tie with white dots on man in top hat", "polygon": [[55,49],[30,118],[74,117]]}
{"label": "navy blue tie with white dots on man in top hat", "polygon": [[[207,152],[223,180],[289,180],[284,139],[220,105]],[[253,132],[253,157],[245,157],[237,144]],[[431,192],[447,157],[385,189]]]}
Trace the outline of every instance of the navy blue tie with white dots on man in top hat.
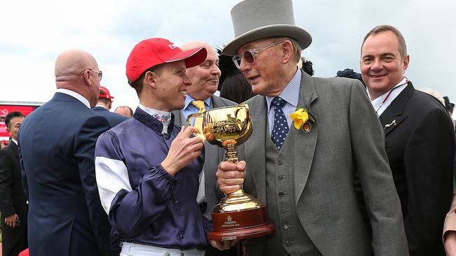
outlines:
{"label": "navy blue tie with white dots on man in top hat", "polygon": [[275,97],[271,101],[271,105],[274,106],[274,129],[272,129],[271,139],[278,150],[282,147],[288,134],[288,122],[282,111],[282,106],[285,102],[280,97]]}

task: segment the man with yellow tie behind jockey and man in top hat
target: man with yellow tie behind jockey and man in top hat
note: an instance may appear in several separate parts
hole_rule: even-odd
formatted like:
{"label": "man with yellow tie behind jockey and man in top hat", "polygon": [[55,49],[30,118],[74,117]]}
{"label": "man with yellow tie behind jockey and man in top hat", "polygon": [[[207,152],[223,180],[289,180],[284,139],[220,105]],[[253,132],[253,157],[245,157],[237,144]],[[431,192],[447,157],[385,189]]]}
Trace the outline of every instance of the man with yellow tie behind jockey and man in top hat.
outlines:
{"label": "man with yellow tie behind jockey and man in top hat", "polygon": [[[234,106],[235,102],[228,99],[220,98],[214,95],[217,91],[220,69],[218,68],[218,56],[215,50],[208,43],[204,42],[189,42],[181,45],[182,50],[204,47],[208,51],[208,55],[203,63],[198,66],[187,69],[187,76],[192,80],[192,85],[187,87],[187,97],[185,106],[181,111],[173,111],[175,115],[175,125],[187,126],[187,116],[200,111],[209,110],[211,108],[220,108],[224,106]],[[201,104],[201,105],[199,105]],[[207,141],[205,145],[205,157],[203,171],[200,173],[199,190],[196,201],[200,205],[203,215],[209,220],[212,220],[211,213],[217,204],[215,197],[215,171],[217,164],[224,159],[224,149],[210,145]],[[220,251],[215,248],[208,248],[206,255],[236,255],[236,248],[228,251]]]}

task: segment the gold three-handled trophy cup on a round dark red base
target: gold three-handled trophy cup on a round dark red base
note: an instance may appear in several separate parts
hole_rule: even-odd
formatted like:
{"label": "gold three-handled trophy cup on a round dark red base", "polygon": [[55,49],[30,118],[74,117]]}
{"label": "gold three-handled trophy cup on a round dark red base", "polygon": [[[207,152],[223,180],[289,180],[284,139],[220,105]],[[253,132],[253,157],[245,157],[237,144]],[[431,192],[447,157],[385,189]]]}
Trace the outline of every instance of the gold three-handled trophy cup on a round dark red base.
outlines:
{"label": "gold three-handled trophy cup on a round dark red base", "polygon": [[[193,119],[193,126],[202,131],[197,136],[225,148],[225,161],[239,162],[236,146],[246,142],[253,131],[247,104],[189,115],[187,125],[191,126]],[[271,234],[276,229],[267,220],[266,206],[244,193],[242,188],[228,194],[215,206],[212,220],[214,229],[209,232],[208,239],[215,241],[250,239]]]}

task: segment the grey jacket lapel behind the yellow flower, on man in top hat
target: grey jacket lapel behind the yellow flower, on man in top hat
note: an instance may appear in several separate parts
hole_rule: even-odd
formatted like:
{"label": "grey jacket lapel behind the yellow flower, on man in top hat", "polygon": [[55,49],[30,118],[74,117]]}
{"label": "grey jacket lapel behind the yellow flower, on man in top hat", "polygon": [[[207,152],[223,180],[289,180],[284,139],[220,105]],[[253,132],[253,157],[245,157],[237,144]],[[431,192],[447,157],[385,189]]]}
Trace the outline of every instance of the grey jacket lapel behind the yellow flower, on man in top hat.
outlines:
{"label": "grey jacket lapel behind the yellow flower, on man in top hat", "polygon": [[[311,111],[311,105],[314,104],[316,98],[314,79],[302,72],[300,98],[297,101],[297,108],[307,106]],[[304,134],[301,129],[295,129],[294,125],[291,125],[288,133],[286,140],[290,143],[290,146],[286,148],[284,153],[286,157],[292,156],[286,162],[291,163],[293,166],[290,171],[294,173],[295,203],[297,204],[307,183],[307,178],[309,178],[310,168],[314,159],[318,135],[318,116],[315,117],[314,126],[309,133]]]}

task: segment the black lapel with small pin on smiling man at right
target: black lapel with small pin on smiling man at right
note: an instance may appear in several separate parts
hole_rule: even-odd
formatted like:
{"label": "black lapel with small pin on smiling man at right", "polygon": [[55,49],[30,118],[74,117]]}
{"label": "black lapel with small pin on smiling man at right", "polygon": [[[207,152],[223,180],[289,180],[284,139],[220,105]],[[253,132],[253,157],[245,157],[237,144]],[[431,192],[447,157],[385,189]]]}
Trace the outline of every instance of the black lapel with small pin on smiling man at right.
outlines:
{"label": "black lapel with small pin on smiling man at right", "polygon": [[405,89],[391,102],[382,115],[380,115],[380,122],[382,123],[385,137],[407,118],[407,115],[405,115],[403,111],[414,92],[415,87],[413,87],[412,82],[409,81],[409,84]]}

